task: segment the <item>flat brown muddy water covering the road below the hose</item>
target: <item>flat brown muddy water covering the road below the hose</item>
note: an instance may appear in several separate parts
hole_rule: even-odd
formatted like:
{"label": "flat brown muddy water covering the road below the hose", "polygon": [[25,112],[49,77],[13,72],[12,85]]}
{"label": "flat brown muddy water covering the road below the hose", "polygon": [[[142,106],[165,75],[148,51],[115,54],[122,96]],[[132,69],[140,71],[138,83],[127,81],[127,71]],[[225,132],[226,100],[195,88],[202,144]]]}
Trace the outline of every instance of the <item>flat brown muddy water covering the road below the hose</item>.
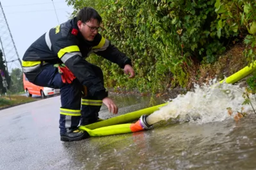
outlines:
{"label": "flat brown muddy water covering the road below the hose", "polygon": [[[240,123],[164,125],[86,141],[81,169],[256,169],[255,116]],[[69,151],[72,146],[70,145]],[[74,153],[74,158],[75,158]]]}

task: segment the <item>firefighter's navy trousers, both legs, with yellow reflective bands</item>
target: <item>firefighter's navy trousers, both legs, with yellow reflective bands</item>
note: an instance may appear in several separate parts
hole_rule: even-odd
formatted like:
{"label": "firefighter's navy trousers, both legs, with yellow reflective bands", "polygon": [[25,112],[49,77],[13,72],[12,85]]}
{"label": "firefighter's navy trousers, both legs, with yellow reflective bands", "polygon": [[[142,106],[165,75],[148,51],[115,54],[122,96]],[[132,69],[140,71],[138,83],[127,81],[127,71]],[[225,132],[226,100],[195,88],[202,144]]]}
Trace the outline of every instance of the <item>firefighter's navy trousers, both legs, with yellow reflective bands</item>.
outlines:
{"label": "firefighter's navy trousers, both legs, with yellow reflective bands", "polygon": [[[95,65],[92,68],[104,83],[102,70]],[[33,84],[60,89],[60,134],[65,134],[67,130],[79,125],[95,123],[99,119],[102,100],[95,100],[96,97],[93,96],[82,97],[82,84],[77,79],[71,84],[63,83],[58,68],[53,65],[43,66]]]}

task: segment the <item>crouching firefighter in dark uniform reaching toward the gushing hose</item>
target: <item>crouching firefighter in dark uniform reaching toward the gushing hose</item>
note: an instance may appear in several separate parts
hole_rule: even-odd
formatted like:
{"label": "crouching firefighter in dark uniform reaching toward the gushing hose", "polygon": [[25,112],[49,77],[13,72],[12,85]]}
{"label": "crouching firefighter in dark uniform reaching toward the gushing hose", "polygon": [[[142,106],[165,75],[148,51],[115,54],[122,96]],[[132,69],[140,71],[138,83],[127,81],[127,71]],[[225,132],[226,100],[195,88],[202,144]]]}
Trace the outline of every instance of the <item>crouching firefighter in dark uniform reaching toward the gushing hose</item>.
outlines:
{"label": "crouching firefighter in dark uniform reaching toward the gushing hose", "polygon": [[98,121],[102,103],[109,112],[118,112],[104,88],[102,70],[86,61],[92,52],[116,63],[129,78],[135,75],[131,59],[98,33],[101,22],[96,10],[84,7],[73,19],[40,36],[22,58],[23,72],[29,82],[60,89],[61,141],[89,137],[77,127]]}

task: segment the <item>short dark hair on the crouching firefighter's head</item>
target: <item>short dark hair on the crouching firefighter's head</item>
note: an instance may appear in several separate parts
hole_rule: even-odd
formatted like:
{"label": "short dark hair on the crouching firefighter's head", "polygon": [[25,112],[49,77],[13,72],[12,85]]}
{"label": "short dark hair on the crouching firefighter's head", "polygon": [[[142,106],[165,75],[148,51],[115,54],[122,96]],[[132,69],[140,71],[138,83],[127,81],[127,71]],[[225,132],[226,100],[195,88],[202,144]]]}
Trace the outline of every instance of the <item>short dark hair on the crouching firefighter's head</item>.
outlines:
{"label": "short dark hair on the crouching firefighter's head", "polygon": [[77,20],[81,20],[82,22],[88,22],[91,19],[96,19],[99,24],[102,22],[102,18],[99,13],[92,7],[84,7],[77,13],[76,17]]}

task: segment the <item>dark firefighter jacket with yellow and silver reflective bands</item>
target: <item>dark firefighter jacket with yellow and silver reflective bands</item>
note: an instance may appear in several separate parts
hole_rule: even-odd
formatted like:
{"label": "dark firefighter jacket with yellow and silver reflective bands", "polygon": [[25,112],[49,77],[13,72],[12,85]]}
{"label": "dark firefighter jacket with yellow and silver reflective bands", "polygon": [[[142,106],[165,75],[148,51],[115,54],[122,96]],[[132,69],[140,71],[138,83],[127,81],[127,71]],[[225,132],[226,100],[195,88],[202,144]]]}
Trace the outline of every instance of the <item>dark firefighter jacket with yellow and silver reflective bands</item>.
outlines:
{"label": "dark firefighter jacket with yellow and silver reflective bands", "polygon": [[[87,87],[90,95],[101,95],[100,99],[106,97],[104,84],[90,68],[90,63],[85,58],[91,52],[116,63],[120,68],[126,64],[131,65],[131,59],[120,52],[114,45],[99,33],[93,42],[83,38],[77,27],[77,19],[70,19],[56,26],[38,40],[31,44],[22,58],[23,72],[29,81],[35,81],[42,66],[48,63],[64,63],[77,79]],[[102,93],[102,91],[105,91]]]}

